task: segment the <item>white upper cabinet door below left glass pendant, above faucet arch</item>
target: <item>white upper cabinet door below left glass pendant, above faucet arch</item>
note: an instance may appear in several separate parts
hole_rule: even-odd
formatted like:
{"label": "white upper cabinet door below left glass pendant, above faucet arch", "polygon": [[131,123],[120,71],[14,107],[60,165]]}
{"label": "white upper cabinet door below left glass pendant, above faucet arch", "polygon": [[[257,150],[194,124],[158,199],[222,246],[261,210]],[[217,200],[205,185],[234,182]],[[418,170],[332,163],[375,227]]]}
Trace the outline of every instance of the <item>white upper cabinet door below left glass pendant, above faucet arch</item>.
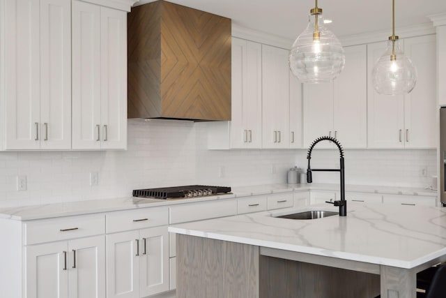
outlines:
{"label": "white upper cabinet door below left glass pendant, above faucet arch", "polygon": [[[333,134],[333,82],[303,84],[304,147],[316,137]],[[330,142],[321,142],[317,148],[332,148]]]}

